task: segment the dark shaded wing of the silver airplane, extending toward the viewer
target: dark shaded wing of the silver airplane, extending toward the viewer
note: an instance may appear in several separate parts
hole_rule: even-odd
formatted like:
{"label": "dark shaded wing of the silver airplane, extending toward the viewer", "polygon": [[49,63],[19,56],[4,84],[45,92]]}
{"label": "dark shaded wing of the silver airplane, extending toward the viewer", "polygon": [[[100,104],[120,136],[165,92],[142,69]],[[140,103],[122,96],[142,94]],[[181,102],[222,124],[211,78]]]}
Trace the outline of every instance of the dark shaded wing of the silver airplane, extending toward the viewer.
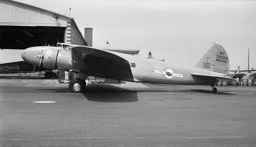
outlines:
{"label": "dark shaded wing of the silver airplane, extending toward the viewer", "polygon": [[87,46],[72,47],[72,63],[90,76],[134,80],[130,63],[110,51]]}

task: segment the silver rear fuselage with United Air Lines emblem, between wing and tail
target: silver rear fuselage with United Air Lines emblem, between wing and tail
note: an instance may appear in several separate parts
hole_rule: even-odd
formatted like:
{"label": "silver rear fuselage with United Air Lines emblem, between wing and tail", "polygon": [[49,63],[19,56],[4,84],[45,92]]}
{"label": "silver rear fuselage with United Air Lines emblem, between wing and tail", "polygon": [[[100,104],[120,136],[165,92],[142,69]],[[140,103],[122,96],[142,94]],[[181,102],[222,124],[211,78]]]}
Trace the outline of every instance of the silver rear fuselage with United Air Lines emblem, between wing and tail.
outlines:
{"label": "silver rear fuselage with United Air Lines emblem, between wing and tail", "polygon": [[136,64],[136,67],[131,67],[134,82],[201,85],[209,84],[209,79],[206,80],[192,77],[191,73],[203,73],[215,76],[226,75],[213,71],[203,70],[200,68],[178,67],[168,64],[168,62],[157,61],[147,58],[138,58],[137,56],[127,55],[123,53],[111,53],[121,56],[122,58],[129,61],[130,64]]}

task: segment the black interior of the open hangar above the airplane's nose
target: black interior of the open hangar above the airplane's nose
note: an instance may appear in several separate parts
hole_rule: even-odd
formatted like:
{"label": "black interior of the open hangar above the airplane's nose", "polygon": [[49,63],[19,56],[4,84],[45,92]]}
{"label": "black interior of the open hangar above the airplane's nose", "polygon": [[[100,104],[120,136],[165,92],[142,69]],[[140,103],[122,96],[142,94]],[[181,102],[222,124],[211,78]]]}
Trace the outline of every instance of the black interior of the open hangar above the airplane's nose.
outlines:
{"label": "black interior of the open hangar above the airplane's nose", "polygon": [[64,43],[66,27],[0,26],[0,48],[26,49]]}

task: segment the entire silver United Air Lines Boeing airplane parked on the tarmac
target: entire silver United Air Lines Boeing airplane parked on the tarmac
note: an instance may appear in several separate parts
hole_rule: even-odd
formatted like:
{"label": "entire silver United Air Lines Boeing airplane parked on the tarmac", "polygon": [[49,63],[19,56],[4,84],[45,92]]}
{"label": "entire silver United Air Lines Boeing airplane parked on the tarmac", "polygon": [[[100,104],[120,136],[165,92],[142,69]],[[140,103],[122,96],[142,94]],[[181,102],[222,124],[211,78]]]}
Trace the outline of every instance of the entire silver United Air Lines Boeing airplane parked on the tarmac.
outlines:
{"label": "entire silver United Air Lines Boeing airplane parked on the tarmac", "polygon": [[83,92],[88,76],[142,83],[176,85],[211,85],[218,81],[233,81],[225,77],[229,71],[226,50],[214,44],[193,68],[167,62],[111,52],[88,46],[58,43],[57,47],[30,47],[21,53],[24,61],[53,70],[79,73],[69,82],[71,92]]}

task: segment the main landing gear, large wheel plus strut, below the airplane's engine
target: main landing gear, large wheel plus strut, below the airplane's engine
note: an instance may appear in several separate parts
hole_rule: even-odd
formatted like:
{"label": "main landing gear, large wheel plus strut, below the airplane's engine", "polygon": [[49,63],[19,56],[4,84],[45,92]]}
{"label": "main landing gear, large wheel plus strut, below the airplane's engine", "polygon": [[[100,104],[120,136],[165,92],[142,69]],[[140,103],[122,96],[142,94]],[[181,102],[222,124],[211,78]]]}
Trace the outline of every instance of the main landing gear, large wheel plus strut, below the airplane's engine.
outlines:
{"label": "main landing gear, large wheel plus strut, below the airplane's engine", "polygon": [[69,90],[73,93],[82,93],[86,89],[85,79],[87,74],[79,73],[78,78],[72,79],[69,82]]}

